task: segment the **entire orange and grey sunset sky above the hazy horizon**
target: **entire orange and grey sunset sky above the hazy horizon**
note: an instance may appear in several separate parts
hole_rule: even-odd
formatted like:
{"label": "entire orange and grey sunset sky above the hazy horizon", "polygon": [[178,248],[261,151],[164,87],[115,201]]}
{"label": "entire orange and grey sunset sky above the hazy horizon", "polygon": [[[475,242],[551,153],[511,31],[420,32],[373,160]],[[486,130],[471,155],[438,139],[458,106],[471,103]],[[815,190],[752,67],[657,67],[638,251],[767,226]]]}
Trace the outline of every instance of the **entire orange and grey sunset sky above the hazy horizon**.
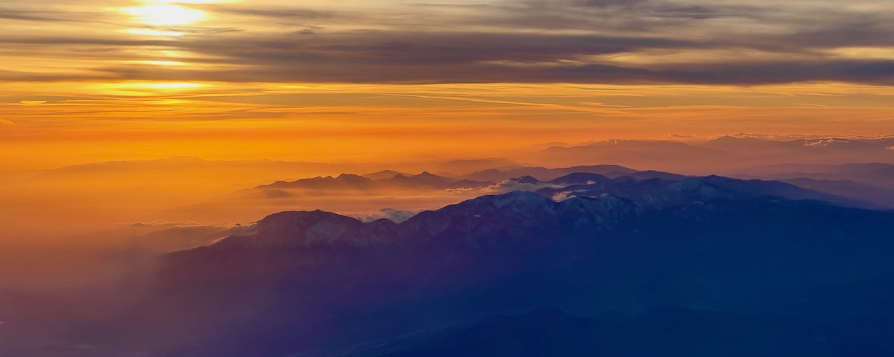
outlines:
{"label": "entire orange and grey sunset sky above the hazy horizon", "polygon": [[894,133],[888,0],[6,0],[0,169]]}

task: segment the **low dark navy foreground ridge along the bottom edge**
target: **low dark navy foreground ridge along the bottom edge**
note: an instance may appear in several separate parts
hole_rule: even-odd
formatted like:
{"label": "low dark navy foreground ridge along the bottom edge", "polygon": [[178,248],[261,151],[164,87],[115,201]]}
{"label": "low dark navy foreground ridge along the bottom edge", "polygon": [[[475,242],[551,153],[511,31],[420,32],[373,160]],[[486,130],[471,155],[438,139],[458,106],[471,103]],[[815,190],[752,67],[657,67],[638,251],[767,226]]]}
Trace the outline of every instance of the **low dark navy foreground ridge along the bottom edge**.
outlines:
{"label": "low dark navy foreground ridge along the bottom edge", "polygon": [[454,328],[382,357],[831,356],[824,339],[790,318],[660,306],[587,319],[540,308]]}

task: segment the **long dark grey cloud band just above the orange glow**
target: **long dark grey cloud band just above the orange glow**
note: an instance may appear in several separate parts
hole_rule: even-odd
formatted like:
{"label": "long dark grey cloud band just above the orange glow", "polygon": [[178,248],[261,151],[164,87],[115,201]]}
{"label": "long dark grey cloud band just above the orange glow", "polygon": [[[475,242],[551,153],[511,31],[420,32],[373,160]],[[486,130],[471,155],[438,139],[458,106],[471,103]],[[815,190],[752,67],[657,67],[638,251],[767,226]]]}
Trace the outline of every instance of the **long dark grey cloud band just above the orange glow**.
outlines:
{"label": "long dark grey cloud band just above the orange glow", "polygon": [[[10,43],[3,39],[0,43]],[[13,40],[12,42],[21,42]],[[8,72],[16,80],[144,79],[341,83],[604,83],[763,85],[841,81],[894,85],[894,60],[763,59],[675,63],[612,62],[598,56],[648,48],[708,46],[684,39],[524,33],[323,33],[288,37],[197,38],[184,41],[39,38],[34,43],[165,46],[205,54],[201,71],[116,65],[92,73]],[[643,54],[647,56],[647,54]],[[597,56],[597,57],[593,57]],[[215,64],[227,66],[215,67]],[[233,67],[238,66],[238,67]]]}

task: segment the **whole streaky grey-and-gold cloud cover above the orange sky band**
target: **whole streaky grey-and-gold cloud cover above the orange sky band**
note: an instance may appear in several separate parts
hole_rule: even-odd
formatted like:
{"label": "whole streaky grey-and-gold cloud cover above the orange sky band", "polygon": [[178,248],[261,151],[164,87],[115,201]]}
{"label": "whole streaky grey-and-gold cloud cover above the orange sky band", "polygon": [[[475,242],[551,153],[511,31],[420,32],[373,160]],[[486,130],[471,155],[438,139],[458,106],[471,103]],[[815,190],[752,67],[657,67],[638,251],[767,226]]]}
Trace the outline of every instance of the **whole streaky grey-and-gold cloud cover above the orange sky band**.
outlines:
{"label": "whole streaky grey-and-gold cloud cover above the orange sky band", "polygon": [[[879,3],[861,4],[866,8]],[[894,37],[889,36],[894,16],[826,0],[785,5],[524,0],[476,2],[474,6],[435,1],[388,4],[368,12],[333,11],[311,4],[201,8],[228,20],[220,24],[226,27],[184,26],[176,31],[189,36],[172,38],[69,35],[78,31],[0,38],[0,44],[22,55],[40,46],[52,49],[41,51],[42,55],[60,60],[77,57],[71,55],[73,51],[94,51],[91,60],[109,60],[91,61],[94,66],[106,64],[90,71],[35,74],[7,68],[0,77],[396,84],[894,84],[894,57],[848,52],[853,46],[894,46]],[[430,16],[442,8],[450,10],[443,16]],[[63,15],[71,14],[53,14]],[[232,27],[236,24],[240,28]],[[110,48],[115,50],[96,52]],[[198,65],[169,68],[114,61],[122,53],[153,51],[192,54],[183,60]]]}

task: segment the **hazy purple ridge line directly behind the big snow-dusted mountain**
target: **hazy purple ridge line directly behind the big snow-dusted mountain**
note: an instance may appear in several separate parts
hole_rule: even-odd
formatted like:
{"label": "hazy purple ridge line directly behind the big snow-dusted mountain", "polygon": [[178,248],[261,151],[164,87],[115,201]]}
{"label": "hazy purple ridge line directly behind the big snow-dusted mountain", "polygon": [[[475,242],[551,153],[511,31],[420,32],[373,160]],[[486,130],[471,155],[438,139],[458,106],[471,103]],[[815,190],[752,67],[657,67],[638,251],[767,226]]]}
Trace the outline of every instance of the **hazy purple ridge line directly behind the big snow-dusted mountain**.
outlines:
{"label": "hazy purple ridge line directly behind the big snow-dusted mountain", "polygon": [[[886,172],[886,165],[871,165],[878,172]],[[840,165],[835,167],[862,168],[864,165]],[[861,171],[862,172],[862,171]],[[873,171],[874,173],[875,171]],[[424,190],[468,190],[483,194],[504,193],[511,190],[527,189],[536,191],[540,188],[552,187],[553,195],[586,193],[596,195],[595,189],[606,189],[600,185],[596,187],[570,187],[572,185],[587,185],[591,179],[608,184],[608,190],[603,193],[621,195],[618,190],[623,190],[624,185],[637,191],[649,187],[640,185],[635,181],[649,181],[656,185],[653,189],[663,189],[672,182],[690,182],[694,177],[662,172],[655,170],[638,171],[616,165],[575,166],[569,168],[547,169],[542,167],[520,167],[507,170],[483,170],[464,176],[446,174],[449,176],[434,175],[427,171],[418,175],[400,173],[393,170],[384,170],[369,175],[342,174],[337,177],[316,177],[312,179],[298,179],[295,181],[277,181],[269,185],[262,185],[247,190],[241,190],[234,195],[237,197],[250,197],[261,199],[283,199],[299,196],[325,196],[344,195],[381,195],[388,192],[413,192]],[[375,179],[371,179],[371,176]],[[747,176],[747,175],[743,175]],[[718,186],[738,185],[738,187],[750,190],[760,189],[764,195],[779,195],[791,199],[814,199],[838,203],[850,207],[870,209],[894,209],[894,191],[884,187],[873,187],[849,180],[817,180],[792,175],[795,179],[781,179],[780,181],[751,179],[747,184],[740,184],[737,180],[725,179],[719,176],[704,177]],[[546,178],[544,181],[536,178]],[[751,177],[751,176],[747,176]],[[864,177],[881,177],[867,173]],[[493,179],[491,181],[485,179]],[[632,185],[632,186],[631,186]],[[569,189],[563,189],[569,187]]]}

